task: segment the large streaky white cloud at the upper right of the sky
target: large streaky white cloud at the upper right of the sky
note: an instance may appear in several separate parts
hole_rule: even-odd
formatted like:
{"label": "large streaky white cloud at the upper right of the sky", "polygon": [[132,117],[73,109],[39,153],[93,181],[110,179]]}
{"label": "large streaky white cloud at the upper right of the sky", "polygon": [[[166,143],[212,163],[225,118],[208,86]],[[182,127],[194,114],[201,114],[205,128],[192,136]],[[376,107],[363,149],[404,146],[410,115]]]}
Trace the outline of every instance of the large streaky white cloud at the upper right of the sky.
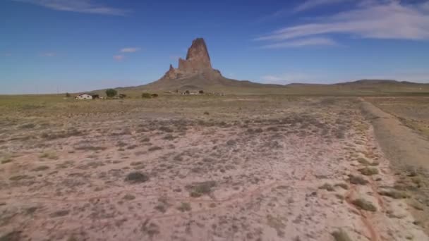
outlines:
{"label": "large streaky white cloud at the upper right of the sky", "polygon": [[373,39],[429,39],[427,4],[403,5],[398,1],[364,4],[319,22],[285,27],[256,40],[281,41],[330,34]]}

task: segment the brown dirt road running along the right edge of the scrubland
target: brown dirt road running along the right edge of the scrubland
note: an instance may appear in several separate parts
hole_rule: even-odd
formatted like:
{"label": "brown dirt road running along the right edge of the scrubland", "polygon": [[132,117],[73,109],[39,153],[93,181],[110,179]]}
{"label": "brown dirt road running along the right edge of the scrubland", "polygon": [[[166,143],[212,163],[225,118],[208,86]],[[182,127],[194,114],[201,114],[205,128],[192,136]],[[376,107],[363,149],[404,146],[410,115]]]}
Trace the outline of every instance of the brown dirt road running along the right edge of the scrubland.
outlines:
{"label": "brown dirt road running along the right edge of the scrubland", "polygon": [[368,101],[363,101],[362,111],[397,176],[395,187],[410,194],[407,201],[416,223],[429,233],[429,142]]}

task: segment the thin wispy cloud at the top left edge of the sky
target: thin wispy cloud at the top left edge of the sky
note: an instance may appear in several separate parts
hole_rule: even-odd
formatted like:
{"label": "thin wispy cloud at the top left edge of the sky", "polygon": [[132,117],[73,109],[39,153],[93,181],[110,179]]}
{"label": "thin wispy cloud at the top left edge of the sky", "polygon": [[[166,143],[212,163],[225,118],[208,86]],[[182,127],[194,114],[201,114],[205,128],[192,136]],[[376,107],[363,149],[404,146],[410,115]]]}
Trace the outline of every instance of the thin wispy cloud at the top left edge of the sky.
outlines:
{"label": "thin wispy cloud at the top left edge of the sky", "polygon": [[56,11],[124,16],[128,11],[95,4],[92,0],[13,0],[51,8]]}

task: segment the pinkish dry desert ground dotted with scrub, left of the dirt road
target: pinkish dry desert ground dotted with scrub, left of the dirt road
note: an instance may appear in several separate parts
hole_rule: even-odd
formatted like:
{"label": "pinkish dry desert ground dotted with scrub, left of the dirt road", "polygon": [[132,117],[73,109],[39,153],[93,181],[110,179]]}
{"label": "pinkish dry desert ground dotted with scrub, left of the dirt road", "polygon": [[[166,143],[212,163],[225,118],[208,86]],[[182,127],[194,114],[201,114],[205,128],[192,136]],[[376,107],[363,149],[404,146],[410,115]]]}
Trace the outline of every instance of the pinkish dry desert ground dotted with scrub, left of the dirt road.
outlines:
{"label": "pinkish dry desert ground dotted with scrub, left of the dirt road", "polygon": [[1,237],[428,240],[359,101],[258,101],[3,118]]}

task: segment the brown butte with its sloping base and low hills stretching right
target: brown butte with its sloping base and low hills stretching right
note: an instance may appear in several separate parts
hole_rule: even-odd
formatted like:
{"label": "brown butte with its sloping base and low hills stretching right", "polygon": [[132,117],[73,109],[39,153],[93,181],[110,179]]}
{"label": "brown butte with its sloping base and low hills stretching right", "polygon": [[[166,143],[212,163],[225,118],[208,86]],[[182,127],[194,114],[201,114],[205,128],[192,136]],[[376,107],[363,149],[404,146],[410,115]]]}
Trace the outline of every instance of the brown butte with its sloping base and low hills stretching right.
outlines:
{"label": "brown butte with its sloping base and low hills stretching right", "polygon": [[[315,95],[386,95],[429,94],[429,84],[399,82],[397,80],[356,80],[336,84],[291,83],[288,85],[262,84],[247,80],[225,78],[212,68],[210,55],[203,38],[194,39],[186,59],[179,58],[178,68],[169,70],[155,82],[135,87],[116,88],[124,94],[138,95],[141,92],[184,92],[186,90],[225,92],[229,94],[315,94]],[[95,91],[104,95],[104,90]]]}

